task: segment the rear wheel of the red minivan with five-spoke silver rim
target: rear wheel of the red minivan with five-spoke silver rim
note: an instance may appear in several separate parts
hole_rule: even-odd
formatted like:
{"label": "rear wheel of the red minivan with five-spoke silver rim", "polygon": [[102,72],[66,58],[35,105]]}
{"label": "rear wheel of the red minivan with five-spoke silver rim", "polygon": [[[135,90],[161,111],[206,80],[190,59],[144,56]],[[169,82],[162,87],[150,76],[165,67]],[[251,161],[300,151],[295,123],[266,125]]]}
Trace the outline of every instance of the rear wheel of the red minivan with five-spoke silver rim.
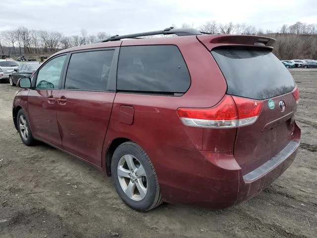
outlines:
{"label": "rear wheel of the red minivan with five-spoke silver rim", "polygon": [[[129,166],[127,161],[130,161]],[[111,174],[119,197],[132,209],[147,212],[163,202],[153,164],[138,144],[129,141],[116,148],[111,160]]]}

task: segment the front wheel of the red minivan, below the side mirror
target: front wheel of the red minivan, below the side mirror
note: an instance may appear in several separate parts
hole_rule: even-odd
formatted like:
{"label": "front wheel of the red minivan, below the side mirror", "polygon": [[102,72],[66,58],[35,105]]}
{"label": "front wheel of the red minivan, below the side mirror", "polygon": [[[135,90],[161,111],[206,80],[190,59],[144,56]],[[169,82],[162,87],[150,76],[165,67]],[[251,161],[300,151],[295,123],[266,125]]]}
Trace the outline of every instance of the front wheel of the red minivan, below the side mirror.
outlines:
{"label": "front wheel of the red minivan, below the side mirror", "polygon": [[35,145],[35,139],[30,129],[29,120],[22,109],[19,110],[16,120],[22,142],[27,146]]}

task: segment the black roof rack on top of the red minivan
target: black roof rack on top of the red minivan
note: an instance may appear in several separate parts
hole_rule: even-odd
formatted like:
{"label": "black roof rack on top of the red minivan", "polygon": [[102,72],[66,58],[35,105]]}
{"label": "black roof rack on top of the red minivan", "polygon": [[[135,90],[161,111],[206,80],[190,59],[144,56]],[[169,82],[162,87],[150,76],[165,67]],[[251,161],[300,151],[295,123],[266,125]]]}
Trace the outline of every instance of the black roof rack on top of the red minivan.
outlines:
{"label": "black roof rack on top of the red minivan", "polygon": [[203,33],[193,28],[174,28],[171,26],[160,31],[149,31],[149,32],[142,32],[142,33],[136,33],[136,34],[122,35],[122,36],[114,35],[114,36],[110,36],[109,38],[96,41],[94,43],[118,41],[121,39],[129,39],[129,38],[140,39],[140,37],[142,36],[172,35],[172,34],[175,34],[177,36],[194,36],[194,35],[202,35]]}

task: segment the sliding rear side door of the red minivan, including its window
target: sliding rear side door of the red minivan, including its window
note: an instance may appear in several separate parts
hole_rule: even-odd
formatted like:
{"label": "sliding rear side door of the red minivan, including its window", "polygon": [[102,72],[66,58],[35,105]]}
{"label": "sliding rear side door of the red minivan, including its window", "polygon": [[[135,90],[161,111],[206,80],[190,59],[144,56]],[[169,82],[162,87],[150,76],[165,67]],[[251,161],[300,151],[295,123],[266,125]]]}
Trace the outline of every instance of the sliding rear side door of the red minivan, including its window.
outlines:
{"label": "sliding rear side door of the red minivan, including its window", "polygon": [[57,97],[63,149],[99,167],[115,97],[118,51],[107,48],[72,53]]}

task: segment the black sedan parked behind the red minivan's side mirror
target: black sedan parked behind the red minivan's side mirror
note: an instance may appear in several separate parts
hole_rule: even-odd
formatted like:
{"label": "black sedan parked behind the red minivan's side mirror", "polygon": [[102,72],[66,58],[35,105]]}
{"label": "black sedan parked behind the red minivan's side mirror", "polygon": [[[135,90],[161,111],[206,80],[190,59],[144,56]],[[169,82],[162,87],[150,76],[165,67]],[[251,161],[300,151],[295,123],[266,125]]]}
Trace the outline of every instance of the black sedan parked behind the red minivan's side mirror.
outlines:
{"label": "black sedan parked behind the red minivan's side mirror", "polygon": [[20,78],[31,77],[31,75],[40,67],[39,62],[25,62],[14,69],[9,75],[9,83],[15,86]]}

